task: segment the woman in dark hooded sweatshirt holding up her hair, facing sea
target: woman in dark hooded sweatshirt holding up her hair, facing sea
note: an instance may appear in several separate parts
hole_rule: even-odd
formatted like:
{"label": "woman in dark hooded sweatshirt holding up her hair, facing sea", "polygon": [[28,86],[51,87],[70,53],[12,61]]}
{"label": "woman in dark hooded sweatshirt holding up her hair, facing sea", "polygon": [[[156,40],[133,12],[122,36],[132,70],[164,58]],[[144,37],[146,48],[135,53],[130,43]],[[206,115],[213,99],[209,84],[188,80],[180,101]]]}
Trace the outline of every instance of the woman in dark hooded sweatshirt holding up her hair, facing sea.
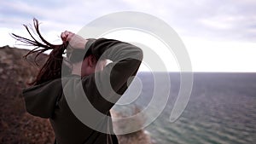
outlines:
{"label": "woman in dark hooded sweatshirt holding up her hair, facing sea", "polygon": [[[27,54],[36,53],[35,60],[44,51],[52,51],[31,83],[32,86],[23,89],[26,111],[34,116],[49,118],[55,131],[55,143],[118,143],[109,110],[131,84],[127,81],[136,75],[143,51],[130,43],[106,38],[84,39],[67,31],[61,33],[63,43],[53,45],[41,36],[38,20],[34,19],[34,26],[41,42],[32,36],[27,26],[32,40],[15,34],[13,36],[23,43],[38,47]],[[63,60],[63,54],[67,55],[67,60]],[[113,62],[106,66],[106,60]],[[66,61],[69,66],[62,66],[62,61]],[[84,124],[73,113],[73,107],[68,105],[68,101],[78,102],[78,105],[81,102],[78,101],[83,98],[78,89],[79,84],[90,104],[102,113],[102,118],[94,119],[95,127]],[[79,112],[90,119],[94,113],[86,107],[80,108]]]}

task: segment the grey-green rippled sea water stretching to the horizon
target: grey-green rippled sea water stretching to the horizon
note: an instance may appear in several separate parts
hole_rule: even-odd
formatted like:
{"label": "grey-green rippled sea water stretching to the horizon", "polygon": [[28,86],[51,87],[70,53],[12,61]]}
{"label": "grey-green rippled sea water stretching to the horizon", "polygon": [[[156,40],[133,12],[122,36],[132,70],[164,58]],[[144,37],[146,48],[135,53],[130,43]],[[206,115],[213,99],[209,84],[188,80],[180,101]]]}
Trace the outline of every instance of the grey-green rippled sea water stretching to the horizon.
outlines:
{"label": "grey-green rippled sea water stretching to the horizon", "polygon": [[[129,105],[119,107],[147,107],[155,90],[154,76],[161,74],[138,73],[137,77],[143,86],[140,94],[136,94],[134,101]],[[169,76],[171,87],[167,105],[160,112],[160,116],[145,128],[156,143],[255,143],[256,73],[194,73],[189,104],[174,123],[170,122],[169,117],[180,89],[180,75],[169,73]],[[167,93],[165,90],[163,89],[162,94]],[[161,95],[158,95],[158,98],[160,100]],[[146,113],[146,118],[151,115],[150,112]]]}

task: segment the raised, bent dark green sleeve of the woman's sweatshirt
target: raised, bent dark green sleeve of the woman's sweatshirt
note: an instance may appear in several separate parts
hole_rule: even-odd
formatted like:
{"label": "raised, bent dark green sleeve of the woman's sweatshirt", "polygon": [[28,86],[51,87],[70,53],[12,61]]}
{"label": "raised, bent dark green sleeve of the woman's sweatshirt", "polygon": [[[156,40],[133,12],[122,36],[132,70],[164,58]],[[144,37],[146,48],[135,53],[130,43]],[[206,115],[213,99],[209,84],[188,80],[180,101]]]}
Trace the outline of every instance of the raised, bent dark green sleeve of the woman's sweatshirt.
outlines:
{"label": "raised, bent dark green sleeve of the woman's sweatshirt", "polygon": [[82,78],[86,97],[100,112],[108,112],[124,94],[143,60],[142,49],[130,43],[100,38],[87,45],[97,59],[113,62],[101,72]]}

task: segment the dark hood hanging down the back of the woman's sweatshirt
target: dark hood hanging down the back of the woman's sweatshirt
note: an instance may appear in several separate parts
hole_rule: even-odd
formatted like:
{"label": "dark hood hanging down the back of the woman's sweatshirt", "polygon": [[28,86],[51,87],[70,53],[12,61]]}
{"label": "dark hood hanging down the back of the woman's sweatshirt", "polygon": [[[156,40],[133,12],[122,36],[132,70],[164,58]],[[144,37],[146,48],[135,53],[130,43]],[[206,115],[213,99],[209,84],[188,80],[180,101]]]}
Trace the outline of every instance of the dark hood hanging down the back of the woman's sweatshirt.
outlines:
{"label": "dark hood hanging down the back of the woman's sweatshirt", "polygon": [[58,97],[62,95],[61,78],[22,90],[26,111],[34,116],[50,118]]}

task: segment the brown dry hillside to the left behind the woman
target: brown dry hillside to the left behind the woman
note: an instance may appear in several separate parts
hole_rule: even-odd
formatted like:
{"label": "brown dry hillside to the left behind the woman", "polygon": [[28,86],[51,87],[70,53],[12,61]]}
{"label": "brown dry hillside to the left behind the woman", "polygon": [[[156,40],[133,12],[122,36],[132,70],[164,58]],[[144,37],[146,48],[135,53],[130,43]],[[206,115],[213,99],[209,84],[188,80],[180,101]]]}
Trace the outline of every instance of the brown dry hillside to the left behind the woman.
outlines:
{"label": "brown dry hillside to the left behind the woman", "polygon": [[[53,143],[54,133],[47,119],[36,118],[25,109],[21,89],[38,71],[22,55],[28,51],[0,48],[0,143]],[[38,62],[44,62],[41,55]]]}

